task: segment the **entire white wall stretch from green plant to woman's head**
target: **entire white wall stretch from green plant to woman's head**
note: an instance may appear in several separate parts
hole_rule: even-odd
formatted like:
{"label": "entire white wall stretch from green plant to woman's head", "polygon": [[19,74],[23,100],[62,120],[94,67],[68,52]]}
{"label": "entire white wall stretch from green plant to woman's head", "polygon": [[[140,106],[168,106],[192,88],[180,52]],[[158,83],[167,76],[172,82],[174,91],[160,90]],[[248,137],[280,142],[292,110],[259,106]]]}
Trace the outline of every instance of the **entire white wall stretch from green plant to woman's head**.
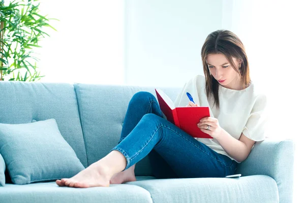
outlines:
{"label": "entire white wall stretch from green plant to woman's head", "polygon": [[[42,1],[58,30],[41,42],[41,81],[182,86],[202,74],[201,47],[222,1]],[[173,80],[172,80],[173,79]]]}

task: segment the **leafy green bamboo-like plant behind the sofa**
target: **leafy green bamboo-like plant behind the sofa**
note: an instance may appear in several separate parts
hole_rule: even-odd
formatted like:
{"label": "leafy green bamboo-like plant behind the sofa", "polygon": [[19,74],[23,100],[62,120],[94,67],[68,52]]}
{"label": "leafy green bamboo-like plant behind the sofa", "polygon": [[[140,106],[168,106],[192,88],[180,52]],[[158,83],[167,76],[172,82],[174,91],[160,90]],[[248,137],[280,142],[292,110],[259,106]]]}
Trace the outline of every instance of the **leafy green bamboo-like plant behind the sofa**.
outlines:
{"label": "leafy green bamboo-like plant behind the sofa", "polygon": [[38,42],[49,36],[43,27],[48,24],[46,16],[39,14],[38,0],[14,0],[5,5],[0,0],[0,80],[4,77],[15,81],[40,80],[40,72],[33,47],[40,47]]}

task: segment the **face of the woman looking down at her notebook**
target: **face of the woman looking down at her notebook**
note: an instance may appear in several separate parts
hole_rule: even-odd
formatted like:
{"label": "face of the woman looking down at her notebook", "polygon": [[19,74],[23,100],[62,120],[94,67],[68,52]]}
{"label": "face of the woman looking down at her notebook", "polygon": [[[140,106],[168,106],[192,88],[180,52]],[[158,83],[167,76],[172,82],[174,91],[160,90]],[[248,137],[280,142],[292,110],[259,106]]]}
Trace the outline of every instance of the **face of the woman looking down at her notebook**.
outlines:
{"label": "face of the woman looking down at her notebook", "polygon": [[[240,61],[234,57],[232,59],[238,69]],[[220,85],[229,89],[239,90],[241,88],[240,77],[224,54],[209,54],[206,63],[209,72]]]}

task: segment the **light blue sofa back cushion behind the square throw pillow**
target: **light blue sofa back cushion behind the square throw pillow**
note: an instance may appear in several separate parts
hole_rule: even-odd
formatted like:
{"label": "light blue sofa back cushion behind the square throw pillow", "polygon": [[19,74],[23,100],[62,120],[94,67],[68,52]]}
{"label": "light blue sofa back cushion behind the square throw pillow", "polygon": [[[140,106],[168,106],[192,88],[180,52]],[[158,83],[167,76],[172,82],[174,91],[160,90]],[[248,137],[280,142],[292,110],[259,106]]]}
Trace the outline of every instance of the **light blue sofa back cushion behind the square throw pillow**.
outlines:
{"label": "light blue sofa back cushion behind the square throw pillow", "polygon": [[1,81],[0,123],[54,118],[62,136],[86,167],[87,159],[75,90],[68,83]]}

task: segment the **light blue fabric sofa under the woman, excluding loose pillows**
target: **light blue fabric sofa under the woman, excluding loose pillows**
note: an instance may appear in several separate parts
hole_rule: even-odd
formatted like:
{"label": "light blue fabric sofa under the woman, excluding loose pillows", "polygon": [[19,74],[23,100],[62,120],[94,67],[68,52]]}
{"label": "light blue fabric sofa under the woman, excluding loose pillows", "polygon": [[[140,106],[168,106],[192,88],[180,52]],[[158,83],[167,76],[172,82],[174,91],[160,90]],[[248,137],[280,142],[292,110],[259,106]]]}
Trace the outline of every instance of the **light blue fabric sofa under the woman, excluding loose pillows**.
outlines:
{"label": "light blue fabric sofa under the woman, excluding loose pillows", "polygon": [[[54,118],[87,167],[118,142],[131,97],[155,87],[0,82],[0,123]],[[162,88],[175,99],[180,88]],[[191,157],[190,157],[191,158]],[[292,202],[294,143],[266,139],[239,164],[240,178],[156,179],[146,156],[136,182],[110,187],[58,187],[55,182],[0,187],[0,202]],[[6,177],[8,178],[8,177]]]}

